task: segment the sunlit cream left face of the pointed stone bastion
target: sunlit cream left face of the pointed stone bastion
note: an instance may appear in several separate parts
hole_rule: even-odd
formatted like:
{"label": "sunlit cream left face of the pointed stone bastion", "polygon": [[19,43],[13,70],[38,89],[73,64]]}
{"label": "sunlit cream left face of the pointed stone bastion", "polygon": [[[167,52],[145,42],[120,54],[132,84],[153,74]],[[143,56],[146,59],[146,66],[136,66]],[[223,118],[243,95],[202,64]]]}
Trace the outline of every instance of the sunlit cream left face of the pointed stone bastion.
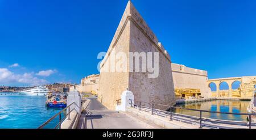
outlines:
{"label": "sunlit cream left face of the pointed stone bastion", "polygon": [[[111,72],[110,61],[117,52],[123,52],[128,56],[130,44],[130,21],[123,28],[117,43],[110,46],[110,52],[106,54],[105,60],[101,63],[100,91],[98,100],[109,109],[115,109],[116,100],[121,99],[121,94],[129,87],[129,72]],[[113,50],[114,49],[114,50]],[[108,57],[108,55],[110,55]],[[117,63],[117,60],[114,61]],[[109,72],[106,72],[109,71]]]}

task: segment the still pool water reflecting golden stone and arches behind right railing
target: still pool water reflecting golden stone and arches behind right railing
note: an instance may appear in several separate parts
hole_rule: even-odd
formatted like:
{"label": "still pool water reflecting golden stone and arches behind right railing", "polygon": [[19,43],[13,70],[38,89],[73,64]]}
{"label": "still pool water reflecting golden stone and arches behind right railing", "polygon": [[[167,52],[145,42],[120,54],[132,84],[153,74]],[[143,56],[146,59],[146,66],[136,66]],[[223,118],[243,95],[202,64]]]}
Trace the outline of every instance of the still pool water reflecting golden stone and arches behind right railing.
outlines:
{"label": "still pool water reflecting golden stone and arches behind right railing", "polygon": [[[246,109],[250,101],[235,101],[235,100],[213,100],[204,101],[198,103],[179,104],[177,107],[201,109],[206,111],[217,111],[217,112],[232,112],[232,113],[246,113]],[[175,109],[176,113],[188,114],[191,116],[200,116],[199,112],[188,111],[184,109]],[[233,121],[246,121],[247,116],[234,115],[234,114],[218,114],[218,113],[203,113],[203,117],[216,118],[221,120],[233,120]]]}

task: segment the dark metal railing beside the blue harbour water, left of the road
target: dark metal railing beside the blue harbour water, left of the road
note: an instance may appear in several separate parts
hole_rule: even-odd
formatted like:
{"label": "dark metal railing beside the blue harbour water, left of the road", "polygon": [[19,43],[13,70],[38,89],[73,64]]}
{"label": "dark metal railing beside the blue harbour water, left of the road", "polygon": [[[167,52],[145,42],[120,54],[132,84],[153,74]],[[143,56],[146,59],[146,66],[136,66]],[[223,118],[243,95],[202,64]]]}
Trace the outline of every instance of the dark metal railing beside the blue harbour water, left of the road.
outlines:
{"label": "dark metal railing beside the blue harbour water, left of the road", "polygon": [[[65,120],[65,118],[68,117],[68,120],[70,120],[70,113],[71,113],[72,111],[74,111],[74,110],[76,111],[75,108],[73,108],[72,110],[70,110],[70,107],[71,107],[71,105],[73,105],[73,104],[77,106],[77,104],[76,104],[75,102],[72,103],[72,104],[70,104],[70,105],[68,105],[68,107],[64,108],[64,109],[63,109],[62,111],[60,111],[59,113],[55,114],[55,116],[49,118],[49,120],[47,120],[46,122],[44,122],[44,124],[42,124],[41,126],[39,126],[38,129],[43,129],[44,126],[46,126],[47,124],[49,124],[49,122],[51,122],[53,119],[55,119],[55,118],[58,117],[58,116],[59,116],[59,123],[55,126],[54,129],[57,129],[58,127],[59,127],[59,129],[61,129],[61,123]],[[66,111],[67,109],[68,109],[68,113],[67,113],[63,118],[61,118],[61,113],[64,113],[64,111]],[[77,114],[78,114],[78,113],[77,113]],[[77,117],[77,114],[76,114],[75,118]],[[72,124],[73,124],[73,122],[72,122]]]}

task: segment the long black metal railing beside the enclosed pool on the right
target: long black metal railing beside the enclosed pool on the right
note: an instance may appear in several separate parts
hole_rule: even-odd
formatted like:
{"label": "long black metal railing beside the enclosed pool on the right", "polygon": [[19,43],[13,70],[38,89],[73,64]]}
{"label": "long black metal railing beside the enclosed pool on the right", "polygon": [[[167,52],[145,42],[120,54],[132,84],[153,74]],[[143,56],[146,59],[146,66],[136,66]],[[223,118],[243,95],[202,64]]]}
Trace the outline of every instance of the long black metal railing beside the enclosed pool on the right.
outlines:
{"label": "long black metal railing beside the enclosed pool on the right", "polygon": [[[172,105],[162,105],[162,104],[154,104],[154,103],[147,103],[145,101],[139,101],[138,104],[134,103],[134,100],[129,100],[130,101],[130,105],[132,108],[137,108],[139,109],[139,111],[146,111],[146,112],[151,112],[151,114],[158,114],[159,116],[163,116],[163,117],[170,117],[170,121],[174,120],[174,116],[176,116],[176,120],[180,119],[182,120],[182,118],[178,118],[178,117],[184,117],[184,118],[191,118],[193,120],[198,120],[199,121],[199,128],[203,128],[204,126],[211,126],[211,125],[207,125],[207,124],[203,124],[204,122],[212,122],[213,124],[218,123],[218,124],[228,124],[228,125],[237,125],[237,126],[247,126],[249,127],[249,129],[251,129],[252,126],[256,126],[256,123],[252,122],[251,117],[252,116],[256,116],[256,113],[230,113],[230,112],[217,112],[217,111],[205,111],[205,110],[200,110],[200,109],[190,109],[190,108],[182,108],[182,107],[174,107]],[[142,105],[145,104],[145,105]],[[155,109],[156,106],[161,106],[161,107],[165,107],[170,109],[170,111],[162,111],[160,109]],[[174,109],[184,109],[184,110],[188,110],[188,111],[196,111],[199,112],[199,117],[197,116],[189,116],[189,115],[185,115],[185,114],[178,114],[178,113],[174,113]],[[203,113],[207,112],[207,113],[217,113],[217,114],[233,114],[233,115],[243,115],[243,116],[248,116],[249,118],[249,122],[242,122],[242,121],[225,121],[225,120],[214,120],[214,119],[210,119],[210,118],[203,118]],[[185,120],[183,120],[185,121]]]}

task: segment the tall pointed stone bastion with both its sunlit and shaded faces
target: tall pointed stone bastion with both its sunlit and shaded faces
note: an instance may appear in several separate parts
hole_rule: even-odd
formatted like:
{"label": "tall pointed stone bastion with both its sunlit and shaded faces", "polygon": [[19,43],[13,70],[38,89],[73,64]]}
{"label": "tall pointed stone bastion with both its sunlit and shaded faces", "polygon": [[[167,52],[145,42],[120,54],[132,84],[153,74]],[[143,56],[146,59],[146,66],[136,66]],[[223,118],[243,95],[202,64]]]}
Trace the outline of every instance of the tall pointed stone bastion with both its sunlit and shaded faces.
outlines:
{"label": "tall pointed stone bastion with both its sunlit and shaded faces", "polygon": [[[104,70],[110,66],[111,56],[117,52],[123,52],[127,56],[129,52],[159,52],[159,77],[149,79],[148,72],[105,72]],[[170,56],[162,45],[158,45],[158,39],[130,1],[101,63],[98,100],[106,107],[115,109],[116,100],[121,99],[122,92],[127,88],[133,92],[135,103],[146,101],[154,104],[175,104]]]}

